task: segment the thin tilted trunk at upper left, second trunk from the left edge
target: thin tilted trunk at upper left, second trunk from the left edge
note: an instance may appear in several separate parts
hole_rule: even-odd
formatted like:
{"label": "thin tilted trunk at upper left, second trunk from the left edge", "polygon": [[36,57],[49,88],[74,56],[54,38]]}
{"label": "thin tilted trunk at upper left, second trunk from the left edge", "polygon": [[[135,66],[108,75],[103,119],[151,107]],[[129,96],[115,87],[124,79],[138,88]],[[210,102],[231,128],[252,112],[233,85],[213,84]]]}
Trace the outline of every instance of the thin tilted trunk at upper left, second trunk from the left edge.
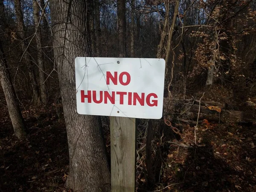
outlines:
{"label": "thin tilted trunk at upper left, second trunk from the left edge", "polygon": [[15,12],[17,17],[17,34],[19,35],[19,38],[21,41],[22,52],[24,53],[23,55],[24,61],[26,63],[26,67],[29,72],[29,79],[30,79],[30,84],[32,88],[32,93],[33,93],[33,102],[35,104],[38,104],[40,102],[40,95],[39,95],[38,85],[36,81],[35,70],[32,64],[32,59],[31,59],[31,56],[29,55],[28,50],[26,50],[27,44],[25,40],[23,14],[21,10],[20,0],[14,0],[14,5],[15,5]]}

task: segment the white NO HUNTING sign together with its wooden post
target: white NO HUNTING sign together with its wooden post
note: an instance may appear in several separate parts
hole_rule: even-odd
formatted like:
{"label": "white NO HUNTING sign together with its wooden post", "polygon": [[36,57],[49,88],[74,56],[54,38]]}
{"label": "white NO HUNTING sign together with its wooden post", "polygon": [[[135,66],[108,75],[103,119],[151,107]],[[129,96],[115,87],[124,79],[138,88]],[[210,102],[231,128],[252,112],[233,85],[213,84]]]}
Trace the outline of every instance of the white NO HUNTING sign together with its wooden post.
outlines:
{"label": "white NO HUNTING sign together with its wooden post", "polygon": [[162,117],[165,61],[78,57],[75,66],[77,112],[112,116],[111,191],[134,192],[135,118]]}

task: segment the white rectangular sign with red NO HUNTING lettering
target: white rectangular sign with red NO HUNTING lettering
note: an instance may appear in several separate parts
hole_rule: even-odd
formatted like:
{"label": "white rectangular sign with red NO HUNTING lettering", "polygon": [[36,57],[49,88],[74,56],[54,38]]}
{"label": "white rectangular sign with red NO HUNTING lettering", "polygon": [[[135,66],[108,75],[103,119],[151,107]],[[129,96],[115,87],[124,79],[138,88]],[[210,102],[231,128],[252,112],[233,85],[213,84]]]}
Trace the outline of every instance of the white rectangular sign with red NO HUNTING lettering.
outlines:
{"label": "white rectangular sign with red NO HUNTING lettering", "polygon": [[160,119],[164,59],[77,57],[77,112]]}

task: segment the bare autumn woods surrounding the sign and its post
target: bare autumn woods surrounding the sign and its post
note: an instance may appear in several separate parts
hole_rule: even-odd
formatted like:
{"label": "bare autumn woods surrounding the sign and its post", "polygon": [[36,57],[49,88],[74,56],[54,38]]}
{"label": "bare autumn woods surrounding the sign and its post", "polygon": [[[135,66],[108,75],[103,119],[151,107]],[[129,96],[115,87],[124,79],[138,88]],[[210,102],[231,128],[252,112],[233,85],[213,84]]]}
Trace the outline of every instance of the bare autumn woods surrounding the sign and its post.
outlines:
{"label": "bare autumn woods surrounding the sign and its post", "polygon": [[0,0],[0,192],[110,191],[110,120],[76,113],[78,56],[166,61],[136,191],[256,191],[255,0]]}

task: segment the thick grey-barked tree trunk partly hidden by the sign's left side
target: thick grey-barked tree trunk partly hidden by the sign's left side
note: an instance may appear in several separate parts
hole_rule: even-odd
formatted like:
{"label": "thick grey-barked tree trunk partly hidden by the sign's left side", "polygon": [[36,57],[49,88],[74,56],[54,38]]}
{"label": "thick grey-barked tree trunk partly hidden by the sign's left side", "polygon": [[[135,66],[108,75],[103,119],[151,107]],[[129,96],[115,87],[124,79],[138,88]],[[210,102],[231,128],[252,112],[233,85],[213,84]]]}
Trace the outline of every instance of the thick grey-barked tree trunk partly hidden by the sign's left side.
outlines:
{"label": "thick grey-barked tree trunk partly hidden by the sign's left side", "polygon": [[101,123],[76,111],[75,58],[91,56],[88,0],[52,0],[55,59],[69,145],[67,187],[74,191],[109,192],[110,171]]}

